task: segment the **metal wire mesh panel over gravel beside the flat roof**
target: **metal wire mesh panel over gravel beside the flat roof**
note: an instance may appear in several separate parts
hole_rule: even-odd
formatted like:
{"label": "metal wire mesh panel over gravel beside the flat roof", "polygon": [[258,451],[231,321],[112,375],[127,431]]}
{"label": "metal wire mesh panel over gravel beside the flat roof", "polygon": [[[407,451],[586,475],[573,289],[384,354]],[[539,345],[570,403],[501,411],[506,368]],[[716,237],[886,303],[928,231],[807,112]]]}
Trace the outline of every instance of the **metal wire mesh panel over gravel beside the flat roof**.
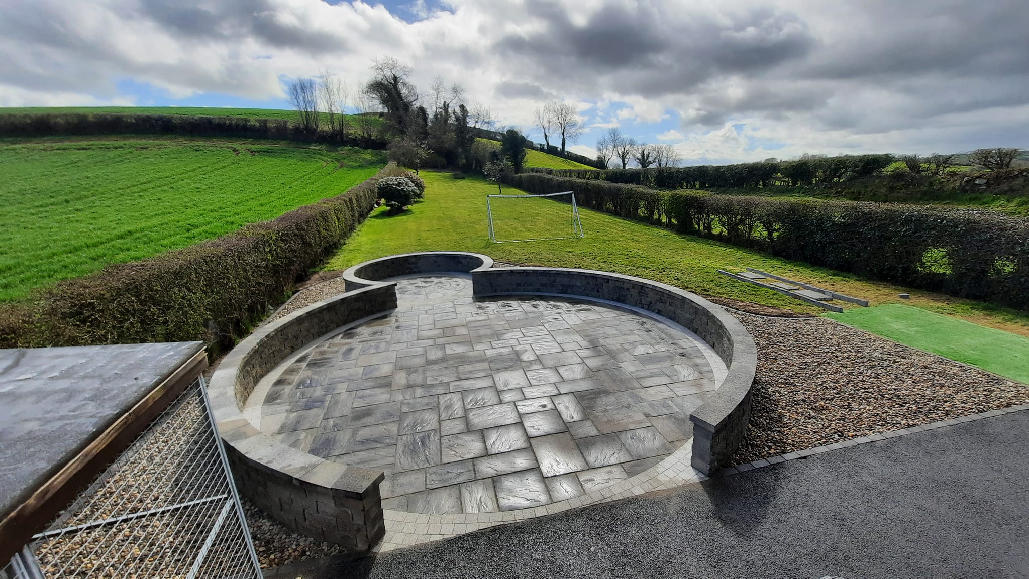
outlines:
{"label": "metal wire mesh panel over gravel beside the flat roof", "polygon": [[3,579],[260,579],[203,378],[8,567]]}

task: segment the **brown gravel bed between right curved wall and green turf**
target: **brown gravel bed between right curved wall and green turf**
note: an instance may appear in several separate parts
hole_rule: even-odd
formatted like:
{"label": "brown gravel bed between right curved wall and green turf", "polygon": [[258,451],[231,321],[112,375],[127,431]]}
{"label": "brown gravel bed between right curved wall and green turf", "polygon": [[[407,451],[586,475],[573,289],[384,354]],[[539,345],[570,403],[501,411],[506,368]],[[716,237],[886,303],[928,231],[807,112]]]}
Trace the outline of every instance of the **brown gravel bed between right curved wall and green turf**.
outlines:
{"label": "brown gravel bed between right curved wall and green turf", "polygon": [[832,320],[733,315],[757,343],[733,464],[1029,402],[1029,386]]}

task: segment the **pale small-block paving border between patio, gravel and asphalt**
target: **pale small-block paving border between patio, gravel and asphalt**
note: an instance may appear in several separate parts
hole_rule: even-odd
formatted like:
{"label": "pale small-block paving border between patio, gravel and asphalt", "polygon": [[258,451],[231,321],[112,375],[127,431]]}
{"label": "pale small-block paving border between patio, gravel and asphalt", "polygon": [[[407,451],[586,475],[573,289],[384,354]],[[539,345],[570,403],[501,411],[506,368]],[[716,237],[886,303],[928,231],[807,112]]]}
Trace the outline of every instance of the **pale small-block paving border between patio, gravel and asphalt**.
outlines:
{"label": "pale small-block paving border between patio, gravel and asphalt", "polygon": [[[884,432],[881,434],[870,434],[841,442],[833,442],[831,444],[824,444],[813,448],[805,448],[794,453],[777,455],[742,465],[726,467],[715,473],[713,477],[732,476],[757,468],[769,467],[787,461],[806,459],[808,457],[821,455],[831,450],[839,450],[841,448],[848,448],[859,444],[888,440],[918,432],[925,432],[1026,410],[1029,410],[1029,404],[1019,404],[1016,406],[1008,406],[1007,408],[987,410],[977,414],[938,421],[925,425],[903,428],[900,430]],[[649,470],[646,470],[632,478],[599,491],[588,493],[574,499],[568,499],[566,501],[551,503],[539,507],[514,511],[442,515],[386,510],[384,511],[386,519],[386,536],[383,538],[382,543],[372,549],[372,552],[384,553],[398,548],[429,543],[440,539],[448,539],[450,537],[457,537],[459,535],[489,529],[491,527],[509,524],[511,522],[528,520],[538,516],[556,514],[578,507],[609,503],[619,499],[643,495],[645,493],[675,488],[677,486],[700,482],[710,478],[704,476],[700,471],[690,466],[690,454],[691,448],[688,444],[685,444],[657,466],[653,466]]]}

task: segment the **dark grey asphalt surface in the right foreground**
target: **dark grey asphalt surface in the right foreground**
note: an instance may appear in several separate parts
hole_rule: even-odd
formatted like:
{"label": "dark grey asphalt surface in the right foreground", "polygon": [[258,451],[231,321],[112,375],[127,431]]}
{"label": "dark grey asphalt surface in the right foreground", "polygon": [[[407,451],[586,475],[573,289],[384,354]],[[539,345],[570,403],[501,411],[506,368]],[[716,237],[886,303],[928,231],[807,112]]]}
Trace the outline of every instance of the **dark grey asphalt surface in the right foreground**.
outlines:
{"label": "dark grey asphalt surface in the right foreground", "polygon": [[1029,411],[319,567],[289,577],[1029,577]]}

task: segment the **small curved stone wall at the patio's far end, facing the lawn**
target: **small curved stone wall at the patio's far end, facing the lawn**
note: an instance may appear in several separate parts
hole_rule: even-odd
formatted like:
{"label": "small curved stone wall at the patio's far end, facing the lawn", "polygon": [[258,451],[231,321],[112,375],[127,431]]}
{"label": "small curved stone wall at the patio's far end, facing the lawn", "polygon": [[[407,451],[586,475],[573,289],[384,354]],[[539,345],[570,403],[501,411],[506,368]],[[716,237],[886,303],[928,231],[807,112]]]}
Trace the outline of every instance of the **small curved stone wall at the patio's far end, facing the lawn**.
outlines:
{"label": "small curved stone wall at the patio's far end, facing the lawn", "polygon": [[349,267],[341,276],[347,291],[368,287],[382,280],[413,274],[480,272],[493,267],[493,258],[464,251],[425,251],[403,253],[364,261]]}

